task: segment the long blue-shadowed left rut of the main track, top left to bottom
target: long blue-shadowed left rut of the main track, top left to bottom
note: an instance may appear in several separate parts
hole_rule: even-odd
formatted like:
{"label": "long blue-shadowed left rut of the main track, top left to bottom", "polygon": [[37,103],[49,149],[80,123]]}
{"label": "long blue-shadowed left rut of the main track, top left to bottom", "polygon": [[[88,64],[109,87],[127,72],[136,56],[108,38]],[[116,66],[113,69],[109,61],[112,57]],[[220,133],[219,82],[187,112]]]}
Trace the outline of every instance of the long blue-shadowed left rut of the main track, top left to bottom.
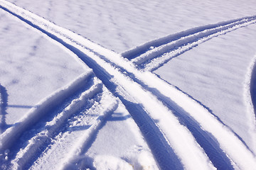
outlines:
{"label": "long blue-shadowed left rut of the main track, top left to bottom", "polygon": [[[117,85],[114,84],[112,81],[112,76],[108,74],[104,68],[102,68],[97,62],[92,60],[90,57],[85,55],[83,52],[78,50],[77,48],[69,45],[68,43],[64,42],[62,39],[56,37],[55,35],[48,33],[46,30],[36,26],[35,24],[31,23],[31,21],[26,20],[25,18],[18,16],[16,13],[9,11],[7,8],[0,6],[0,8],[4,9],[11,13],[13,16],[16,16],[21,21],[28,23],[28,25],[40,30],[42,33],[48,35],[48,37],[52,38],[53,40],[60,42],[63,46],[68,48],[70,51],[74,52],[80,60],[85,62],[88,67],[90,67],[93,72],[95,73],[96,77],[100,79],[103,84],[109,89],[114,96],[117,96],[124,106],[127,108],[129,113],[134,118],[135,122],[139,125],[142,134],[144,135],[146,142],[148,143],[156,162],[159,164],[161,169],[183,169],[183,165],[181,164],[180,160],[174,153],[173,149],[170,147],[169,143],[165,140],[164,135],[161,133],[159,128],[156,127],[155,123],[149,115],[144,111],[144,108],[137,103],[132,103],[130,101],[125,100],[120,94],[117,93]],[[89,49],[87,49],[89,50]]]}

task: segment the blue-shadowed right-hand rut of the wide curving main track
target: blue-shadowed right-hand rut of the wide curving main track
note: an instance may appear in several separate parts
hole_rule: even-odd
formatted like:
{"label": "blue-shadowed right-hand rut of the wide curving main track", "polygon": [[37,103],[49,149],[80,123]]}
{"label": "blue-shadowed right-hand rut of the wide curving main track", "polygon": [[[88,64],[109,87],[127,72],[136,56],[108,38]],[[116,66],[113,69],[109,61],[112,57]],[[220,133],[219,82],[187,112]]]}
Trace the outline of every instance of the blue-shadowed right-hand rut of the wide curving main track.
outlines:
{"label": "blue-shadowed right-hand rut of the wide curving main track", "polygon": [[[107,62],[110,62],[103,56],[102,56],[102,59],[106,60]],[[118,67],[118,66],[116,66],[116,67]],[[219,145],[218,141],[215,139],[215,137],[213,137],[213,135],[211,135],[209,132],[206,132],[205,130],[203,130],[201,128],[201,126],[199,125],[199,123],[196,120],[194,120],[188,113],[186,113],[186,111],[184,111],[183,108],[179,107],[176,103],[174,103],[174,101],[171,101],[170,98],[167,98],[166,96],[161,94],[157,89],[151,88],[151,87],[147,86],[146,84],[144,84],[142,81],[137,79],[134,76],[134,74],[127,72],[122,67],[118,67],[118,69],[120,72],[123,72],[123,74],[126,74],[127,77],[130,77],[138,84],[141,84],[144,87],[144,89],[151,91],[151,93],[154,94],[154,96],[157,96],[159,101],[162,101],[165,106],[167,106],[171,111],[173,111],[174,115],[178,118],[180,123],[182,125],[186,126],[186,128],[188,128],[188,130],[191,131],[193,137],[195,137],[195,139],[196,139],[196,142],[198,142],[198,144],[204,149],[204,151],[206,152],[210,161],[213,162],[213,165],[215,167],[217,167],[218,169],[233,169],[230,159],[227,157],[225,152],[223,152],[223,150],[220,149],[220,145]],[[125,102],[125,101],[123,101],[123,102]],[[206,109],[208,109],[208,108],[206,108]],[[210,110],[208,109],[208,111],[210,111]],[[132,111],[129,111],[129,112],[132,115]],[[212,113],[212,111],[210,111],[210,113]],[[134,116],[136,116],[136,115],[132,115],[133,118],[134,118]],[[218,118],[218,120],[220,120],[220,119]],[[154,121],[156,122],[156,120],[154,120]],[[136,122],[136,120],[135,120],[135,122]],[[222,122],[220,121],[220,123],[222,123]],[[137,124],[139,125],[139,123],[137,123]],[[239,136],[238,136],[238,138],[242,141],[242,139]],[[244,142],[244,144],[245,144],[245,142]]]}

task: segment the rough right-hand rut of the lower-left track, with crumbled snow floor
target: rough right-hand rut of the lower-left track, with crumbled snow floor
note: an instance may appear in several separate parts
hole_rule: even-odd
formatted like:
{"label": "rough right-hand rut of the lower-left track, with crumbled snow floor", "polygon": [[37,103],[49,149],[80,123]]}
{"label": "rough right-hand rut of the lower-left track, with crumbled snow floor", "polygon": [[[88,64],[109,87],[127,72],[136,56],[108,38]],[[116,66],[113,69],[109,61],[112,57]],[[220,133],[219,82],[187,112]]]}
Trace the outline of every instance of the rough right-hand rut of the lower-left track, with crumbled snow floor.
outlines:
{"label": "rough right-hand rut of the lower-left track, with crumbled snow floor", "polygon": [[[97,135],[102,128],[101,124],[104,124],[107,121],[107,118],[114,113],[115,108],[110,111],[111,106],[113,106],[114,103],[118,103],[116,98],[114,98],[110,91],[107,91],[107,89],[103,86],[100,94],[97,94],[95,97],[87,100],[85,107],[68,119],[65,126],[62,128],[62,130],[60,130],[60,133],[54,135],[54,137],[50,137],[50,145],[47,147],[43,146],[45,149],[43,149],[43,152],[39,157],[36,157],[36,161],[33,162],[33,164],[28,162],[25,167],[29,169],[41,169],[43,167],[46,168],[46,166],[50,166],[53,167],[53,169],[60,169],[60,166],[64,166],[64,162],[68,162],[70,166],[75,166],[75,162],[78,161],[80,155],[73,155],[74,157],[71,160],[69,159],[70,154],[73,153],[71,151],[80,147],[82,152],[82,149],[92,145],[92,143],[95,141],[95,135]],[[107,115],[102,115],[102,113],[106,113]],[[100,123],[98,128],[93,129],[92,126],[95,126],[95,123],[99,123],[98,120],[102,121],[102,123]],[[87,136],[88,139],[84,139],[87,140],[87,142],[82,142],[82,137],[88,133],[90,133],[90,135]],[[52,157],[58,157],[57,164],[55,162],[55,165],[48,164],[45,166],[42,163],[48,162],[48,160]]]}

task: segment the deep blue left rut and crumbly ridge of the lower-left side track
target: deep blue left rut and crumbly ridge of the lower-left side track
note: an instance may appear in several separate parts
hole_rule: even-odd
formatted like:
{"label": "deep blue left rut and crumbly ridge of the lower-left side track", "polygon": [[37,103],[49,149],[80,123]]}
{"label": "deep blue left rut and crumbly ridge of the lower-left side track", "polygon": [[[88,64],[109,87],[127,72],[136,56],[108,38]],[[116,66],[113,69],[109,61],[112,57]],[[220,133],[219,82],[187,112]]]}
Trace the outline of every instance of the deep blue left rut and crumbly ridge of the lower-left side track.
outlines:
{"label": "deep blue left rut and crumbly ridge of the lower-left side track", "polygon": [[[26,166],[28,162],[31,162],[31,158],[38,154],[40,151],[38,148],[45,146],[50,138],[54,137],[55,133],[65,125],[65,121],[70,116],[79,113],[81,109],[85,108],[90,98],[101,93],[102,86],[102,82],[95,78],[92,70],[90,70],[38,103],[36,108],[32,108],[18,123],[1,134],[1,169],[8,169],[9,166],[12,166],[12,169],[23,169],[23,166]],[[66,106],[68,101],[70,104]],[[63,108],[62,111],[50,123],[44,123],[60,108]],[[41,124],[46,125],[46,127],[39,128],[40,132],[35,134],[35,125]],[[30,139],[31,133],[35,136]],[[28,140],[28,145],[21,149],[23,144],[26,144],[24,140]],[[18,151],[17,154],[16,151]],[[9,162],[10,158],[14,158],[11,162],[12,165]]]}

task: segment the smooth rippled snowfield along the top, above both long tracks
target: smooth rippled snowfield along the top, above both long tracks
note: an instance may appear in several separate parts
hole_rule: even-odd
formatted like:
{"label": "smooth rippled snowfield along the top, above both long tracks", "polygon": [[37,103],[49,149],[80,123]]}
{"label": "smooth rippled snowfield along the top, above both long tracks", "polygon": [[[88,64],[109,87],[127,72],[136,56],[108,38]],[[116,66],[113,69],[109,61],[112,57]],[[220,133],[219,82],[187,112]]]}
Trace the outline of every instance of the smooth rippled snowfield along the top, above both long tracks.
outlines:
{"label": "smooth rippled snowfield along the top, above both long tracks", "polygon": [[9,0],[116,52],[196,26],[255,15],[255,0]]}

